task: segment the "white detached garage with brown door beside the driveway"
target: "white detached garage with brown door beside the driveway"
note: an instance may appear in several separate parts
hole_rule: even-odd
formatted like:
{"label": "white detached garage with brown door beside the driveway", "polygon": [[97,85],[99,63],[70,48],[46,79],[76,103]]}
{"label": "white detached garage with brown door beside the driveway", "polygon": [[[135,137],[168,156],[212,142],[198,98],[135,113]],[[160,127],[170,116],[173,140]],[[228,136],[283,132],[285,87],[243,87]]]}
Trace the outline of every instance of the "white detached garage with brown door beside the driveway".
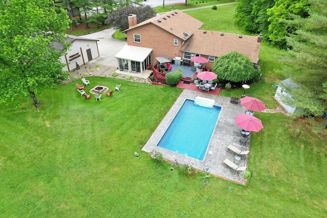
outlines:
{"label": "white detached garage with brown door beside the driveway", "polygon": [[[66,41],[72,43],[72,46],[67,51],[67,55],[61,56],[61,62],[66,65],[62,68],[63,70],[71,71],[99,57],[97,43],[99,40],[80,36],[68,36],[69,38]],[[63,48],[62,45],[59,44],[55,46],[58,46],[58,49]]]}

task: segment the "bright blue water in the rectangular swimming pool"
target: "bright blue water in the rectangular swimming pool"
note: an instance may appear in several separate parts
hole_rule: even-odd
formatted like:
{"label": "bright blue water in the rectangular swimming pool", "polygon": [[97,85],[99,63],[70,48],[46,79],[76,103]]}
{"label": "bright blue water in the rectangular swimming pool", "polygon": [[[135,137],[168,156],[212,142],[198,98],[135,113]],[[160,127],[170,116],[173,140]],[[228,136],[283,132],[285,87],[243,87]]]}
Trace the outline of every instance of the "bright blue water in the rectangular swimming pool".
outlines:
{"label": "bright blue water in the rectangular swimming pool", "polygon": [[221,107],[205,108],[186,99],[157,146],[203,160]]}

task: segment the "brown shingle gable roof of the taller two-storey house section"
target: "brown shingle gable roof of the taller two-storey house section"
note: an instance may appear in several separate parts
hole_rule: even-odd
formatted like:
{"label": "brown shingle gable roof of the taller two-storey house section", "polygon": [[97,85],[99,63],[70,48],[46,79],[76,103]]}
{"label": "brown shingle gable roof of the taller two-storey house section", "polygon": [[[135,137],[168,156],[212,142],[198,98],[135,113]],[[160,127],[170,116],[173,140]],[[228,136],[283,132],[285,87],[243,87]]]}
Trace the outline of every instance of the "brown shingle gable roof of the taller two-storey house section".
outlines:
{"label": "brown shingle gable roof of the taller two-storey house section", "polygon": [[[190,38],[193,35],[193,31],[199,29],[203,25],[203,22],[200,20],[197,20],[179,10],[175,10],[147,19],[141,23],[138,23],[134,27],[124,30],[123,32],[126,33],[132,29],[142,27],[149,23],[153,23],[157,27],[168,31],[183,40]],[[188,34],[188,36],[184,36],[183,33]]]}

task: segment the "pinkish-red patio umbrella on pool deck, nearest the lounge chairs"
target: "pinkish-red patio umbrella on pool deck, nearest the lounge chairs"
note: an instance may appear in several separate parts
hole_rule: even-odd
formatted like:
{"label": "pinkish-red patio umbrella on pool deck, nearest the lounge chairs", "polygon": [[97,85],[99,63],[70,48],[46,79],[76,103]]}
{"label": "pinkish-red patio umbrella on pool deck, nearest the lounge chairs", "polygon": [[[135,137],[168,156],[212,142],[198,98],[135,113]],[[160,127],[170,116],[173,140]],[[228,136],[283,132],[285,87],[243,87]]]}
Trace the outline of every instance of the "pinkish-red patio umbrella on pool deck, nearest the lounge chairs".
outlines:
{"label": "pinkish-red patio umbrella on pool deck, nearest the lounge chairs", "polygon": [[245,131],[259,132],[264,126],[261,120],[250,114],[239,114],[234,117],[235,124],[243,128]]}

